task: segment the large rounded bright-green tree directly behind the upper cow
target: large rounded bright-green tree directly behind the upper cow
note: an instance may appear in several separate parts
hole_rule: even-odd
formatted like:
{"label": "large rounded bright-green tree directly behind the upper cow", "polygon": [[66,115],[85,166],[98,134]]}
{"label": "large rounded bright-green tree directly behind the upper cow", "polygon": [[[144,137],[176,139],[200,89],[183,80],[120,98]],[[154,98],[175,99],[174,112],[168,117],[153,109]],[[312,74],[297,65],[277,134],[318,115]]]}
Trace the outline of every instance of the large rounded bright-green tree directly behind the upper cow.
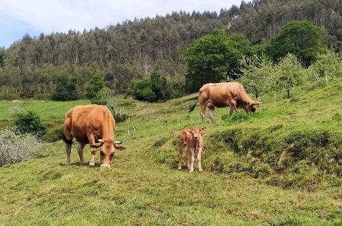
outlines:
{"label": "large rounded bright-green tree directly behind the upper cow", "polygon": [[187,88],[194,91],[202,84],[233,77],[239,71],[239,60],[248,46],[250,42],[244,36],[228,36],[223,30],[194,40],[187,48]]}

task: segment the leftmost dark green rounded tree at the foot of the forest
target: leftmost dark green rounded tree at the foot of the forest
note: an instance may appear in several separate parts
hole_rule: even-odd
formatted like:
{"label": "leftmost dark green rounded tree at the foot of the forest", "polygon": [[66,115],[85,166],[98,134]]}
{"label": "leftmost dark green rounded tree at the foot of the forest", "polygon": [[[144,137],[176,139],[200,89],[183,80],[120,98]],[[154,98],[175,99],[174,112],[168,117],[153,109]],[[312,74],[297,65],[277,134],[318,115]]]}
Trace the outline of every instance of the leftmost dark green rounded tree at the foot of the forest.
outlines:
{"label": "leftmost dark green rounded tree at the foot of the forest", "polygon": [[55,101],[70,101],[78,98],[76,78],[66,72],[61,72],[55,77],[56,89],[52,95]]}

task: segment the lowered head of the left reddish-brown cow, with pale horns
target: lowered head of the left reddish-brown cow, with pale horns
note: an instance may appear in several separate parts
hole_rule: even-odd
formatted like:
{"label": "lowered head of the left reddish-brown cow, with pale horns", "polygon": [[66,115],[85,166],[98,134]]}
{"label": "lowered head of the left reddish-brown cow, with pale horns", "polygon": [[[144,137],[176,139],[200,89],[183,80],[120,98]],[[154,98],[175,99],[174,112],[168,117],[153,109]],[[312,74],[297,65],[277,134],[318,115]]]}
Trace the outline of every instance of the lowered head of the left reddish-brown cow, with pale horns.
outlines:
{"label": "lowered head of the left reddish-brown cow, with pale horns", "polygon": [[114,141],[111,139],[104,139],[104,140],[98,140],[101,141],[101,166],[111,166],[111,161],[114,157],[114,149],[123,150],[124,147],[121,144],[121,142]]}

